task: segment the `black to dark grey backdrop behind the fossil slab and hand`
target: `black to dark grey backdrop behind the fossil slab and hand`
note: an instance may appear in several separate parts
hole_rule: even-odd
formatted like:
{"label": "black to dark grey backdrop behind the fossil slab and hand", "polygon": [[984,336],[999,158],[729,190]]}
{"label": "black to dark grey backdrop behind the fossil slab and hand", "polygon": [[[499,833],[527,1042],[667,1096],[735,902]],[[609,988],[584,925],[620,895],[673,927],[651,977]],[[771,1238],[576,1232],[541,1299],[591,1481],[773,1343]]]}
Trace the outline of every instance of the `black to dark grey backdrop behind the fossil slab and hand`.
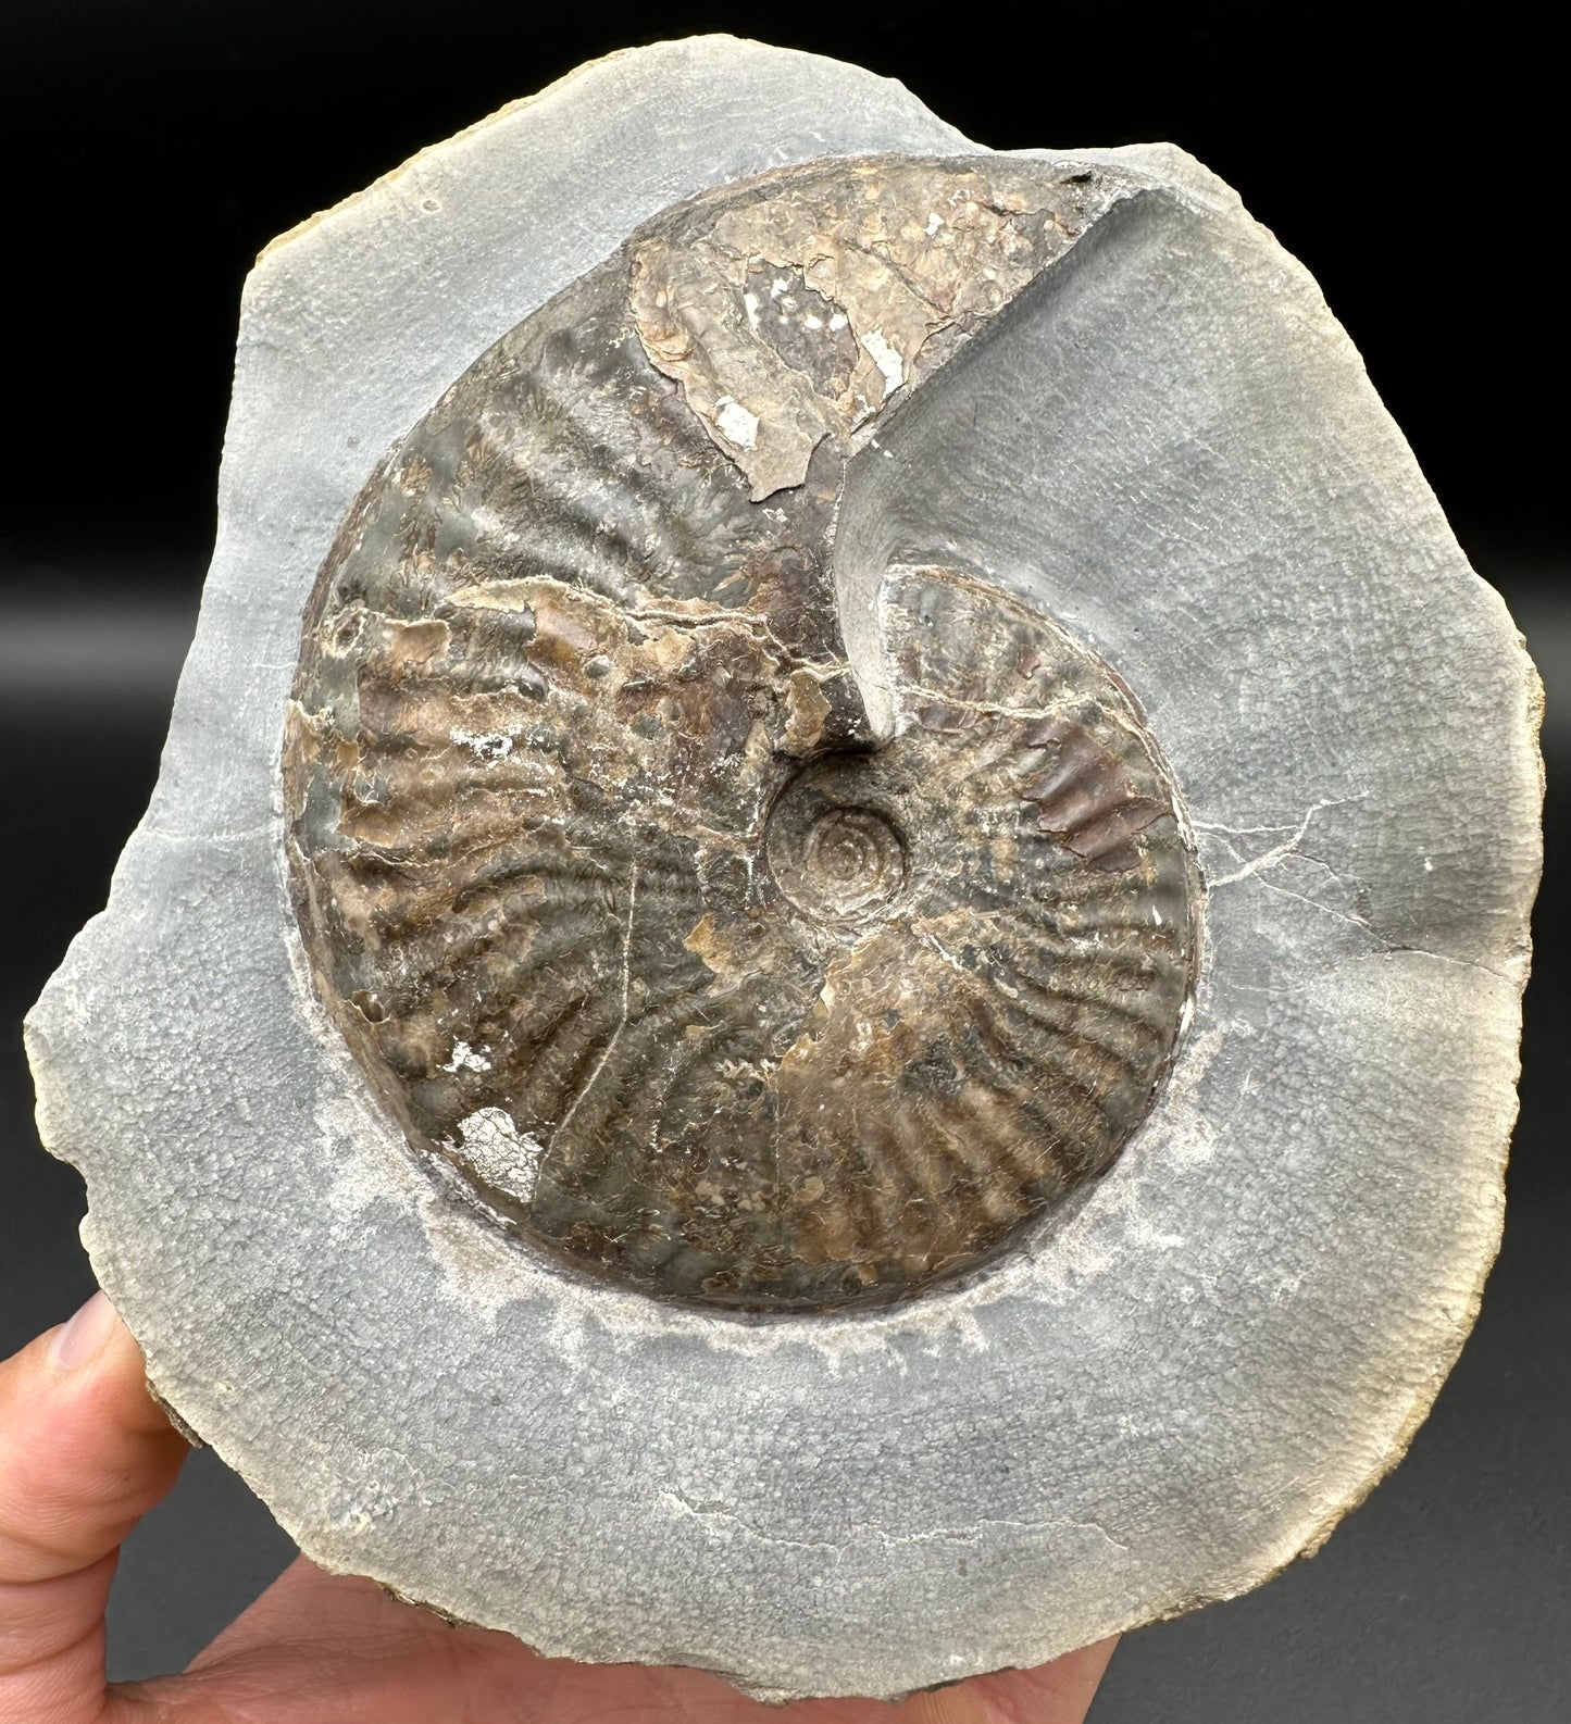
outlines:
{"label": "black to dark grey backdrop behind the fossil slab and hand", "polygon": [[[1312,1562],[1131,1636],[1093,1724],[1571,1712],[1564,871],[1571,593],[1547,7],[533,9],[0,0],[0,1352],[91,1286],[16,1026],[157,771],[214,533],[240,283],[276,233],[616,47],[857,60],[998,148],[1169,138],[1319,278],[1549,683],[1549,874],[1505,1248],[1411,1457]],[[1552,514],[1554,510],[1554,514]],[[190,1657],[286,1560],[210,1455],[133,1538],[112,1660]]]}

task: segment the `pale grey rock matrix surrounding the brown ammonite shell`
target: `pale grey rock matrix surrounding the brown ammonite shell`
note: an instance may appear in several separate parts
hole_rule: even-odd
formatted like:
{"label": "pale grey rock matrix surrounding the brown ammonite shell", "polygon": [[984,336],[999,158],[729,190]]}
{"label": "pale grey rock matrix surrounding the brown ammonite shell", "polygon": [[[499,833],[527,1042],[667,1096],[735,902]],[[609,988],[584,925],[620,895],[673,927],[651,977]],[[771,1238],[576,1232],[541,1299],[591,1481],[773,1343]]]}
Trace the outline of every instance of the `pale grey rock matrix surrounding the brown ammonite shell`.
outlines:
{"label": "pale grey rock matrix surrounding the brown ammonite shell", "polygon": [[[881,662],[888,571],[966,571],[1133,690],[1205,891],[1157,1105],[988,1274],[876,1310],[657,1302],[433,1183],[290,902],[279,755],[335,533],[455,378],[660,210],[890,152],[981,153],[866,72],[664,45],[260,260],[159,790],[29,1021],[45,1141],[86,1172],[159,1393],[310,1555],[545,1652],[774,1695],[898,1693],[1226,1596],[1381,1476],[1495,1250],[1538,872],[1537,679],[1314,284],[1173,150],[1011,159],[1097,176],[1105,212],[847,464],[836,650]],[[804,293],[866,291],[854,248],[816,276],[807,250],[778,264]],[[659,310],[673,260],[640,267]],[[883,334],[797,407],[854,438],[895,355],[902,384],[923,362]],[[721,397],[766,403],[645,336],[716,459],[745,452]],[[733,465],[776,507],[798,455],[766,453]],[[898,686],[862,693],[888,734]]]}

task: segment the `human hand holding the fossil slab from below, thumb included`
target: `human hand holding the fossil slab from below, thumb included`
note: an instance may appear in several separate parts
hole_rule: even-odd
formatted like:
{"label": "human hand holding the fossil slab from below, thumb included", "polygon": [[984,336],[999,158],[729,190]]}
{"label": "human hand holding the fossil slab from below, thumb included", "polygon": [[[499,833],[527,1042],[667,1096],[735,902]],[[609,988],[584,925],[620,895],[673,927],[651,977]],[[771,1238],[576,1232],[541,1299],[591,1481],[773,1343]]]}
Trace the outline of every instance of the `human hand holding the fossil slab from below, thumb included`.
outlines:
{"label": "human hand holding the fossil slab from below, thumb included", "polygon": [[119,1545],[185,1455],[102,1293],[0,1364],[0,1724],[1081,1724],[1112,1655],[778,1708],[702,1671],[540,1658],[300,1557],[185,1674],[107,1684]]}

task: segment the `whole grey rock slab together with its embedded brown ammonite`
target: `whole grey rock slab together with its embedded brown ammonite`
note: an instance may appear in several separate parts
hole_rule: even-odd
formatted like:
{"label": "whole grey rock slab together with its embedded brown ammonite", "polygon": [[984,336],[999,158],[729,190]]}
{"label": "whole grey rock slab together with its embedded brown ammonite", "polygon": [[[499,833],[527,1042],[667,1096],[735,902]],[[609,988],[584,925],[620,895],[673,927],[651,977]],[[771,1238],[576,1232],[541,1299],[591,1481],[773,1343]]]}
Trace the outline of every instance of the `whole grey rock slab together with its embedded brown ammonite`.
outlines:
{"label": "whole grey rock slab together with its embedded brown ammonite", "polygon": [[40,1127],[319,1564],[773,1698],[1036,1664],[1455,1359],[1538,700],[1199,164],[617,55],[259,260]]}

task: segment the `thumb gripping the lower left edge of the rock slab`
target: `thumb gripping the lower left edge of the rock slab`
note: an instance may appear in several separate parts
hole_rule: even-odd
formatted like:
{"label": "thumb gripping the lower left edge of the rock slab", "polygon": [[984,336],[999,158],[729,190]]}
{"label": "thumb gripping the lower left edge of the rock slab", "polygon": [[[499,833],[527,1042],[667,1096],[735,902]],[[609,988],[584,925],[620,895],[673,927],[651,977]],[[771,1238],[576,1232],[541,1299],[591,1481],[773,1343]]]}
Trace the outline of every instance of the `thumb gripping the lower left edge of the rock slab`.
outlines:
{"label": "thumb gripping the lower left edge of the rock slab", "polygon": [[186,1445],[102,1293],[0,1364],[0,1724],[93,1724],[121,1540]]}

